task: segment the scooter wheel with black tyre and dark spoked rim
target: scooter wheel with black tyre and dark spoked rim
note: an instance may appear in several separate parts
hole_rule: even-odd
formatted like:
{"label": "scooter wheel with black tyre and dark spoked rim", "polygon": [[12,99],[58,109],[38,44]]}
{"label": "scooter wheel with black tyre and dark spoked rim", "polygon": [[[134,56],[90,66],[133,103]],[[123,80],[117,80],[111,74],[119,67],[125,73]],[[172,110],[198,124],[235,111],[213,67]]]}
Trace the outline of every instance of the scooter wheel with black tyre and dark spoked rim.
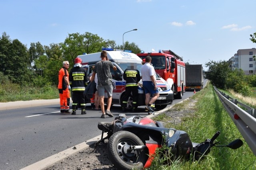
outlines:
{"label": "scooter wheel with black tyre and dark spoked rim", "polygon": [[115,168],[122,170],[141,169],[148,160],[148,150],[130,150],[130,146],[144,143],[134,133],[118,131],[108,140],[108,157]]}

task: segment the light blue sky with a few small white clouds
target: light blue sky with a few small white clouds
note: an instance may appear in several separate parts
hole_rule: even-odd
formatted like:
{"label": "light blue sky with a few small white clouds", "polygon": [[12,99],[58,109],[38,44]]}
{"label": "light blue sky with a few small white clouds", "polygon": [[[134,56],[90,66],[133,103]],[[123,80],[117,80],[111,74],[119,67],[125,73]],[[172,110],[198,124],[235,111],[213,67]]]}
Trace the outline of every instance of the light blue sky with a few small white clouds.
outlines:
{"label": "light blue sky with a few small white clouds", "polygon": [[134,42],[145,53],[171,50],[204,66],[256,48],[255,10],[256,0],[0,0],[0,33],[29,48],[90,32],[116,45]]}

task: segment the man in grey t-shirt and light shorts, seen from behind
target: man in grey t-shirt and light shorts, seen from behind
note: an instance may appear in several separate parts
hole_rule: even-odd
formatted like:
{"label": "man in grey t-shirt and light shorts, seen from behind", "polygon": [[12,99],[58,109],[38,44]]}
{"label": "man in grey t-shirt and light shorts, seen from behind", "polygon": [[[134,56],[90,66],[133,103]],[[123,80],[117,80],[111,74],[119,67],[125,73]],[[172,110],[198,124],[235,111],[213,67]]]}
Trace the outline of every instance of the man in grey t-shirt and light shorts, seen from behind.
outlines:
{"label": "man in grey t-shirt and light shorts, seen from behind", "polygon": [[[107,52],[102,51],[100,54],[101,61],[97,62],[94,67],[94,71],[92,73],[91,82],[95,78],[95,74],[97,73],[98,78],[98,96],[100,98],[100,108],[102,111],[101,118],[106,118],[106,115],[113,117],[112,113],[110,112],[110,106],[112,103],[112,74],[110,68],[113,68],[116,71],[116,66],[111,61],[108,61]],[[104,94],[105,90],[108,94],[108,105],[105,113],[104,108]]]}

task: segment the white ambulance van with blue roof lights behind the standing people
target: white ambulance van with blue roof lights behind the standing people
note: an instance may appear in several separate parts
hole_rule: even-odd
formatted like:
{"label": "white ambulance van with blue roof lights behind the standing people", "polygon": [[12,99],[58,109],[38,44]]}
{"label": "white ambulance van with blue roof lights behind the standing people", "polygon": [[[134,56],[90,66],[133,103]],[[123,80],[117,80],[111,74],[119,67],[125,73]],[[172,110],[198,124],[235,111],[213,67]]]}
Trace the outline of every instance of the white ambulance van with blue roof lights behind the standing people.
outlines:
{"label": "white ambulance van with blue roof lights behind the standing people", "polygon": [[[112,72],[112,82],[113,82],[113,94],[112,94],[112,104],[122,104],[124,94],[125,94],[125,84],[126,81],[123,79],[123,73],[124,70],[127,68],[128,63],[136,63],[137,69],[140,71],[141,69],[141,62],[142,59],[138,57],[134,53],[129,53],[122,50],[114,50],[114,49],[102,49],[106,50],[108,59],[111,61],[114,66],[116,66],[117,70],[114,71],[111,68]],[[85,54],[85,55],[78,55],[82,59],[82,66],[88,65],[88,75],[91,73],[91,67],[94,66],[98,61],[101,60],[100,53],[92,53],[92,54]],[[158,74],[156,75],[156,84],[158,86],[158,91],[160,96],[158,97],[158,100],[155,102],[155,108],[156,109],[163,109],[168,104],[172,104],[173,100],[173,92],[170,89],[170,86],[168,83],[161,78]],[[107,94],[105,93],[105,99],[104,102],[107,102]],[[86,101],[90,102],[90,101]],[[145,93],[142,88],[142,81],[139,82],[138,86],[138,106],[145,106]],[[128,99],[127,109],[130,109],[132,107],[132,98],[130,97]]]}

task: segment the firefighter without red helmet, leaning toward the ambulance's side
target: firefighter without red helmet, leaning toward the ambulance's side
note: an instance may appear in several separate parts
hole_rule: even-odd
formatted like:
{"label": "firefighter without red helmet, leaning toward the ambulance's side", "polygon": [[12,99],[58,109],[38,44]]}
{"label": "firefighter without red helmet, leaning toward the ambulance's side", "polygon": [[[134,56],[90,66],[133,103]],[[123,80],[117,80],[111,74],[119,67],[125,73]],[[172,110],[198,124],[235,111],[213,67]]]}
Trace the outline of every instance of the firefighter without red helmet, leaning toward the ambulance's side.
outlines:
{"label": "firefighter without red helmet, leaning toward the ambulance's side", "polygon": [[129,63],[128,68],[124,70],[123,78],[126,80],[125,95],[122,102],[122,111],[128,103],[128,98],[131,96],[132,92],[132,111],[136,109],[137,98],[138,98],[138,82],[140,81],[140,72],[136,69],[136,63]]}

